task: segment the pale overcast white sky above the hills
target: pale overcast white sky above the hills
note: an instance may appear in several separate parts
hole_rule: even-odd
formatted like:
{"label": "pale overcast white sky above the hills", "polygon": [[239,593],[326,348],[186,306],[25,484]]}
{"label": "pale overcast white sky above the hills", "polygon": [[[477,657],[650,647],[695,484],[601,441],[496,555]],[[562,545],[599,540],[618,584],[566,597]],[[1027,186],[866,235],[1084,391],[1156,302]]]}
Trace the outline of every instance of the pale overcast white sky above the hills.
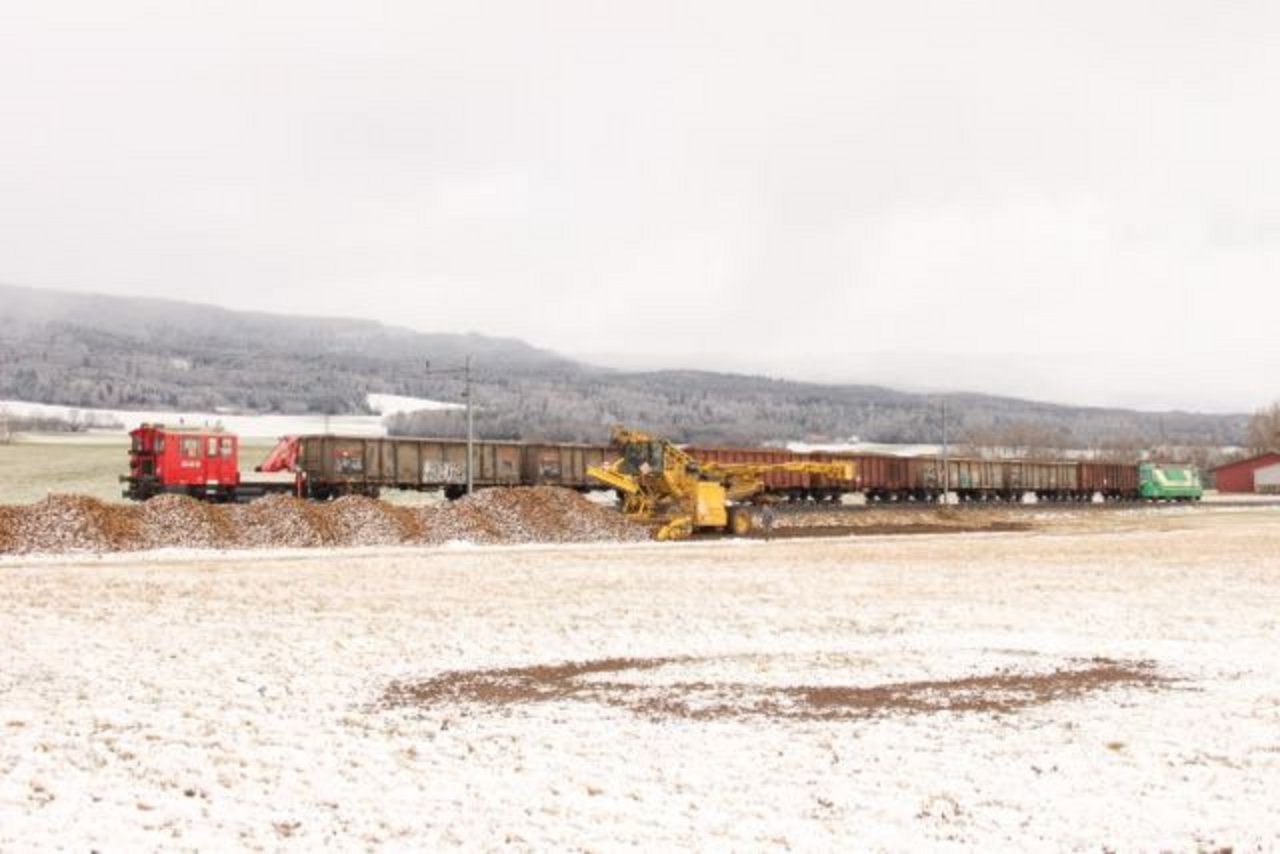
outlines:
{"label": "pale overcast white sky above the hills", "polygon": [[5,3],[0,280],[1280,397],[1280,4]]}

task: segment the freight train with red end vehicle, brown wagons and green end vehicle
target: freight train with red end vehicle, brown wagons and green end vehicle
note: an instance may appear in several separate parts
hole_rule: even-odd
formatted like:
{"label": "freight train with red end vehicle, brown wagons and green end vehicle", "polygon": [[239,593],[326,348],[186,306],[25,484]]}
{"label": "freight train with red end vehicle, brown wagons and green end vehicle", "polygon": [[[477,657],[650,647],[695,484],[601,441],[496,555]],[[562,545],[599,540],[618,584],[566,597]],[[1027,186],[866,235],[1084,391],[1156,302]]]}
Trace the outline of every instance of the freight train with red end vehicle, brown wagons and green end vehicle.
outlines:
{"label": "freight train with red end vehicle, brown wagons and green end vehicle", "polygon": [[[348,494],[376,497],[384,489],[466,492],[467,444],[461,439],[287,437],[257,471],[291,472],[287,480],[246,480],[239,440],[220,429],[143,424],[131,434],[124,495],[146,501],[179,493],[215,502],[243,502],[273,492],[324,501]],[[869,503],[937,502],[950,492],[960,502],[1198,501],[1199,472],[1152,462],[1070,460],[975,460],[895,457],[863,453],[796,453],[771,448],[686,448],[709,463],[850,462],[847,480],[804,472],[764,476],[771,499],[833,502],[860,494]],[[586,492],[603,485],[588,474],[617,451],[604,444],[557,442],[475,443],[476,488],[554,485]]]}

